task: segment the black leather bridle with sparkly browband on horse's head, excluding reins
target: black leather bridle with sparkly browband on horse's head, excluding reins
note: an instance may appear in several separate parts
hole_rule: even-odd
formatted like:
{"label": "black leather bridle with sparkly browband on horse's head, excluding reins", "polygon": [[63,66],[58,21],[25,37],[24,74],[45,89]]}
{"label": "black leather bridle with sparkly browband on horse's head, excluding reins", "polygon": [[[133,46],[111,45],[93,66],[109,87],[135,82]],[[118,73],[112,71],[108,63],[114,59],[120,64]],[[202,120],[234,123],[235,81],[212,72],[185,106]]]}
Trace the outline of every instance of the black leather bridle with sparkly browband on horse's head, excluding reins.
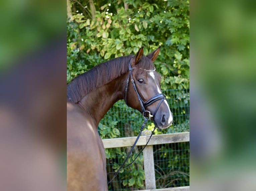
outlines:
{"label": "black leather bridle with sparkly browband on horse's head, excluding reins", "polygon": [[[137,91],[136,85],[135,85],[134,80],[133,80],[133,77],[132,77],[132,70],[133,70],[135,67],[132,67],[132,66],[131,66],[131,60],[132,60],[132,58],[130,59],[130,62],[129,62],[129,65],[128,65],[129,75],[128,75],[128,78],[127,78],[127,81],[126,81],[126,87],[125,87],[125,103],[127,104],[126,98],[127,98],[128,84],[129,84],[129,80],[130,80],[130,78],[131,78],[131,83],[132,83],[133,89],[135,90],[135,92],[136,92],[136,94],[137,94],[137,96],[138,96],[138,100],[139,100],[140,105],[141,105],[141,108],[142,108],[142,115],[143,115],[144,118],[146,118],[145,115],[146,115],[146,113],[148,113],[148,119],[151,120],[151,117],[154,117],[154,116],[155,116],[155,114],[156,114],[156,112],[157,112],[157,110],[158,110],[160,104],[162,103],[162,101],[163,101],[164,99],[166,99],[166,96],[165,96],[164,94],[157,94],[157,95],[154,95],[153,97],[151,97],[151,98],[150,98],[149,100],[147,100],[146,102],[143,101],[143,99],[141,98],[141,96],[139,95],[139,93],[138,93],[138,91]],[[144,70],[145,70],[145,69],[144,69]],[[146,71],[146,72],[154,72],[155,69],[154,69],[154,70],[145,70],[145,71]],[[158,100],[161,100],[161,101],[158,103],[154,114],[151,115],[150,111],[146,110],[146,107],[149,106],[149,105],[151,105],[152,103],[158,101]],[[127,104],[127,105],[128,105],[128,104]]]}

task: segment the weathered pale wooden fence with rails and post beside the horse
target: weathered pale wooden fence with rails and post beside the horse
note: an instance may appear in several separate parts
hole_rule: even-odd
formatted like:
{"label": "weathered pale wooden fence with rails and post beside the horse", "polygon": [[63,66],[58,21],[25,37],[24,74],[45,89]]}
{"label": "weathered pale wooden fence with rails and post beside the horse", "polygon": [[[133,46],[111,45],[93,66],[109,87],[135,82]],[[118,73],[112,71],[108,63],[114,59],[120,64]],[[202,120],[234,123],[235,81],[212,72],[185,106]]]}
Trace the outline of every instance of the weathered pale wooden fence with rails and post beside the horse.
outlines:
{"label": "weathered pale wooden fence with rails and post beside the horse", "polygon": [[[144,146],[151,134],[151,131],[142,131],[142,136],[140,136],[136,146]],[[116,147],[127,147],[132,146],[137,137],[124,137],[124,138],[114,138],[114,139],[103,139],[103,144],[105,148],[116,148]],[[143,150],[144,159],[144,173],[145,173],[145,186],[144,191],[189,191],[189,186],[176,187],[176,188],[166,188],[166,189],[156,189],[155,184],[155,168],[154,168],[154,157],[153,157],[153,146],[156,144],[168,144],[177,142],[188,142],[189,132],[182,133],[169,133],[152,135],[148,145]]]}

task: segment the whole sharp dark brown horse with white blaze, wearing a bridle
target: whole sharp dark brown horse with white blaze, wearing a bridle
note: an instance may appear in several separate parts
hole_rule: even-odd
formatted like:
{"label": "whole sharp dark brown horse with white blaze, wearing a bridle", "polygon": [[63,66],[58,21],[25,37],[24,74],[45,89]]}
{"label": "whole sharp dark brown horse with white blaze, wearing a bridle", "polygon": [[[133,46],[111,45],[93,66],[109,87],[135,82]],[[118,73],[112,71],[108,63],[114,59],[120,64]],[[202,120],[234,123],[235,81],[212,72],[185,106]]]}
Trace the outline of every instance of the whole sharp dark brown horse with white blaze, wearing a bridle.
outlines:
{"label": "whole sharp dark brown horse with white blaze, wearing a bridle", "polygon": [[[98,124],[115,102],[125,99],[156,127],[167,128],[172,113],[153,62],[160,46],[101,63],[67,85],[67,190],[107,191],[106,155]],[[153,114],[152,114],[153,113]]]}

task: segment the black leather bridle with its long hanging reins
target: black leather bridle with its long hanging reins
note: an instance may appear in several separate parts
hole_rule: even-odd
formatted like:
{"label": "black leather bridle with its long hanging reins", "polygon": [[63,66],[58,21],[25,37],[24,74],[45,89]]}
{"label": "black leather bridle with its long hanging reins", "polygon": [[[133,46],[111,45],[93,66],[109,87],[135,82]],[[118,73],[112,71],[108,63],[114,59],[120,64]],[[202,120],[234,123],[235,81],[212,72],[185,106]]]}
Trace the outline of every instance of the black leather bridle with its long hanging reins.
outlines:
{"label": "black leather bridle with its long hanging reins", "polygon": [[[136,85],[135,85],[134,80],[133,80],[133,77],[132,77],[132,70],[133,70],[135,67],[131,67],[131,60],[132,60],[132,58],[130,59],[129,66],[128,66],[128,68],[129,68],[129,75],[128,75],[128,78],[127,78],[127,81],[126,81],[126,87],[125,87],[125,103],[127,104],[126,98],[127,98],[128,84],[129,84],[129,80],[130,80],[130,78],[131,78],[131,83],[132,83],[133,89],[135,90],[135,92],[136,92],[136,94],[137,94],[137,96],[138,96],[138,100],[139,100],[140,105],[141,105],[141,108],[142,108],[142,115],[143,115],[143,117],[144,117],[144,122],[142,123],[142,125],[141,125],[141,127],[140,127],[140,132],[139,132],[139,134],[138,134],[138,136],[137,136],[135,142],[133,143],[133,146],[132,146],[131,150],[130,150],[129,153],[127,154],[127,156],[126,156],[126,158],[125,158],[123,164],[122,164],[122,165],[120,166],[120,168],[115,172],[113,178],[108,182],[108,184],[113,181],[113,179],[117,176],[117,174],[118,174],[121,170],[124,170],[124,169],[128,168],[128,167],[137,159],[137,157],[138,157],[138,156],[140,155],[140,153],[144,150],[144,148],[147,146],[149,140],[151,139],[151,137],[152,137],[152,135],[153,135],[153,133],[154,133],[154,131],[155,131],[155,129],[156,129],[156,126],[154,127],[154,129],[153,129],[153,131],[152,131],[152,133],[151,133],[151,135],[150,135],[150,137],[149,137],[147,143],[146,143],[145,146],[142,148],[142,150],[139,152],[139,154],[134,158],[134,160],[133,160],[130,164],[128,164],[127,166],[125,166],[125,167],[123,168],[123,166],[125,165],[126,161],[127,161],[128,158],[129,158],[129,156],[131,155],[131,153],[132,153],[132,151],[133,151],[133,149],[134,149],[136,143],[138,142],[139,137],[140,137],[140,135],[141,135],[141,133],[142,133],[142,131],[143,131],[143,128],[144,128],[144,126],[145,126],[147,120],[151,120],[151,118],[155,116],[155,114],[156,114],[158,108],[160,107],[161,103],[163,102],[164,99],[166,99],[166,96],[165,96],[164,94],[157,94],[157,95],[154,95],[153,97],[151,97],[151,98],[150,98],[149,100],[147,100],[146,102],[144,102],[144,101],[142,100],[141,96],[139,95],[139,93],[138,93],[138,91],[137,91]],[[154,71],[155,71],[155,68],[154,68],[154,70],[145,70],[145,69],[144,69],[144,71],[146,71],[146,72],[154,72]],[[160,99],[161,99],[161,100],[160,100]],[[149,105],[151,105],[152,103],[158,101],[158,100],[160,100],[160,102],[158,103],[154,114],[151,115],[150,111],[146,110],[146,107],[149,106]],[[128,104],[127,104],[127,105],[128,105]],[[148,113],[148,118],[147,118],[147,116],[145,115],[146,113]],[[111,173],[114,173],[114,172],[111,172]],[[107,173],[107,174],[111,174],[111,173]]]}

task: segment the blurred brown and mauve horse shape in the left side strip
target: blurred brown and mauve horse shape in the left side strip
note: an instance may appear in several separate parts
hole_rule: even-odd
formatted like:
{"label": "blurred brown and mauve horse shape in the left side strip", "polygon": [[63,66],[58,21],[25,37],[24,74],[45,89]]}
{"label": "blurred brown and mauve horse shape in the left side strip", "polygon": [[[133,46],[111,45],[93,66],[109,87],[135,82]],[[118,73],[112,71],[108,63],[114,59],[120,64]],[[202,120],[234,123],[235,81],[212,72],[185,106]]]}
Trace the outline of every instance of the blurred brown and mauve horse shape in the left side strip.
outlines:
{"label": "blurred brown and mauve horse shape in the left side strip", "polygon": [[62,42],[49,44],[1,75],[0,190],[66,187],[66,47]]}

